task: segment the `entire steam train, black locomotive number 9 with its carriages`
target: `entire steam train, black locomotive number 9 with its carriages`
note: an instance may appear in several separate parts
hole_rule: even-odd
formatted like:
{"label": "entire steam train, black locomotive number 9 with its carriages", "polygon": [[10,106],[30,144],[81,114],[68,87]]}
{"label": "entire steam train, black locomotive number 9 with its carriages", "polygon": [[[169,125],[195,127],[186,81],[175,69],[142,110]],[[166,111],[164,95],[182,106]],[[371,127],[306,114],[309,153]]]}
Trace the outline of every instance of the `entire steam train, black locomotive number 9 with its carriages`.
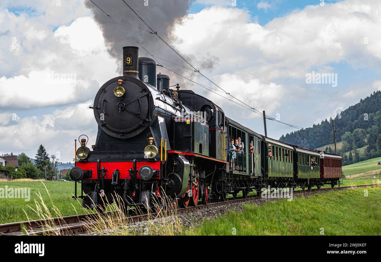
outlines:
{"label": "entire steam train, black locomotive number 9 with its carriages", "polygon": [[[170,86],[156,67],[153,59],[139,58],[138,47],[123,47],[123,75],[99,88],[90,107],[96,143],[90,150],[88,139],[80,140],[70,170],[82,207],[104,207],[118,196],[126,207],[149,209],[164,193],[187,207],[240,191],[260,194],[267,186],[340,183],[341,156],[260,135],[204,96]],[[244,149],[232,169],[228,141],[237,137]]]}

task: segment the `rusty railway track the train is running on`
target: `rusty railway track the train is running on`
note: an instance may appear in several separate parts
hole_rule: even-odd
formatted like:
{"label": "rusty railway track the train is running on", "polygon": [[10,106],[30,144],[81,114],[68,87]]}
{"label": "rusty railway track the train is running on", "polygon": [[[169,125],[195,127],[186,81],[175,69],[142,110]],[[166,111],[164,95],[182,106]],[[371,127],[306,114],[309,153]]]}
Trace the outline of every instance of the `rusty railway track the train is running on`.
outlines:
{"label": "rusty railway track the train is running on", "polygon": [[[355,186],[339,186],[339,187],[324,187],[320,189],[308,190],[297,190],[293,194],[302,194],[306,192],[314,191],[327,191],[327,190],[342,190],[346,188],[353,187],[367,187],[367,186],[378,186],[380,184],[370,184],[370,185],[355,185]],[[247,198],[236,197],[236,198],[227,198],[224,202],[215,202],[205,205],[197,205],[195,207],[179,208],[177,213],[190,212],[198,209],[209,208],[213,206],[228,205],[232,203],[239,203],[250,201],[253,199],[259,199],[262,196],[249,195]],[[151,214],[139,214],[136,215],[136,212],[133,209],[128,210],[128,222],[134,223],[142,220],[147,220],[150,217],[155,217],[155,213]],[[107,215],[112,215],[117,211],[108,211]],[[6,235],[76,235],[82,234],[85,232],[92,223],[96,223],[97,213],[94,214],[83,214],[83,215],[72,215],[68,217],[56,217],[52,219],[39,219],[15,223],[7,223],[0,225],[0,236]]]}

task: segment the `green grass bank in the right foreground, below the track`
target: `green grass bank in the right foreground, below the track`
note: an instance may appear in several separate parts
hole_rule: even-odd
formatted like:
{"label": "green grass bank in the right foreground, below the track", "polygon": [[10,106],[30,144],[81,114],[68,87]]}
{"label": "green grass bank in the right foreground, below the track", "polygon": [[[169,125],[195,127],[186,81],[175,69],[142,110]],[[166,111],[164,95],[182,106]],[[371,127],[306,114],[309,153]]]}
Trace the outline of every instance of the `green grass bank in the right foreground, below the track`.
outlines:
{"label": "green grass bank in the right foreground, below the track", "polygon": [[331,191],[293,201],[285,199],[262,206],[247,205],[184,235],[381,235],[381,188]]}

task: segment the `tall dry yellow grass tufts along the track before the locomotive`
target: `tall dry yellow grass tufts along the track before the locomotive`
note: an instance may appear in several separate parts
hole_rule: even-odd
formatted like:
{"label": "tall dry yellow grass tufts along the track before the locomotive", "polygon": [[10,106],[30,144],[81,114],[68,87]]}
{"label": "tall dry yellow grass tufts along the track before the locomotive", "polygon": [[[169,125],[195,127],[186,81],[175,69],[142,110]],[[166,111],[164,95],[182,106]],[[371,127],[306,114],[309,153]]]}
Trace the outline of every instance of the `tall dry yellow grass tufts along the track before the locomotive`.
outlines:
{"label": "tall dry yellow grass tufts along the track before the locomotive", "polygon": [[[45,230],[45,235],[61,235],[61,231],[57,230],[58,227],[64,227],[66,223],[63,220],[54,220],[53,218],[62,217],[61,211],[53,203],[48,189],[44,184],[46,193],[48,194],[48,201],[51,205],[45,203],[40,192],[37,194],[37,199],[34,200],[34,206],[28,205],[33,216],[39,220],[43,220],[40,224],[39,230]],[[131,200],[132,201],[132,200]],[[78,204],[80,204],[77,199]],[[91,210],[84,209],[85,214],[88,215],[88,222],[83,222],[85,231],[90,232],[92,235],[179,235],[181,234],[181,223],[178,218],[177,207],[173,205],[174,201],[170,197],[162,194],[160,199],[154,201],[154,207],[146,211],[148,214],[145,217],[145,225],[140,228],[130,227],[130,217],[133,215],[143,215],[144,210],[139,207],[129,209],[127,211],[122,198],[119,195],[113,196],[113,203],[109,204],[106,199],[106,208],[99,208],[99,212],[92,213]],[[78,215],[74,205],[70,205]],[[24,210],[28,220],[30,213]],[[128,215],[130,213],[130,215]],[[34,219],[33,219],[34,220]],[[33,232],[27,228],[22,228],[22,232],[26,235]],[[86,233],[87,234],[87,233]]]}

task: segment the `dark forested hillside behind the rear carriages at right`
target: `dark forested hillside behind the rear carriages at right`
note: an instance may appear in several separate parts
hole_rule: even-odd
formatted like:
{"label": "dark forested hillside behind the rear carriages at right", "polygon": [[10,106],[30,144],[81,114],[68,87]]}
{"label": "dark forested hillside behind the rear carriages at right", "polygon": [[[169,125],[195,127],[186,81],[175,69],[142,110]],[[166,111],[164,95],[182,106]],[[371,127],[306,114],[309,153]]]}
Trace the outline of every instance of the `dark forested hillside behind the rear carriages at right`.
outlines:
{"label": "dark forested hillside behind the rear carriages at right", "polygon": [[[351,164],[381,156],[381,92],[373,92],[359,103],[335,117],[336,137],[343,140],[338,153],[344,155],[343,164]],[[282,135],[285,143],[305,148],[318,148],[333,143],[332,118],[306,129]],[[357,149],[364,148],[360,154]],[[330,148],[326,149],[331,151]]]}

